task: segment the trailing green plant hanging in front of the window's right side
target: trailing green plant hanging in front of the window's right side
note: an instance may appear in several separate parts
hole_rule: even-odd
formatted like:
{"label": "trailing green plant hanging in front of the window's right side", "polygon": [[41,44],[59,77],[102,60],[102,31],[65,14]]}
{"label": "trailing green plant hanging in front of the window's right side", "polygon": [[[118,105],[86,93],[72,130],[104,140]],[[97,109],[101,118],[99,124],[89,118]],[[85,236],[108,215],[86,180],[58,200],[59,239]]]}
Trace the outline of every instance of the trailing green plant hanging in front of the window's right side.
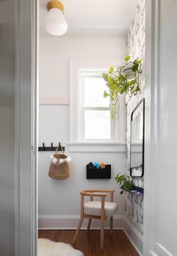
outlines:
{"label": "trailing green plant hanging in front of the window's right side", "polygon": [[110,67],[109,73],[102,76],[107,82],[108,89],[104,91],[104,98],[110,97],[110,108],[112,119],[119,118],[119,96],[136,95],[141,92],[139,85],[139,75],[142,74],[140,59],[130,61],[130,56],[124,58],[126,63],[118,67]]}

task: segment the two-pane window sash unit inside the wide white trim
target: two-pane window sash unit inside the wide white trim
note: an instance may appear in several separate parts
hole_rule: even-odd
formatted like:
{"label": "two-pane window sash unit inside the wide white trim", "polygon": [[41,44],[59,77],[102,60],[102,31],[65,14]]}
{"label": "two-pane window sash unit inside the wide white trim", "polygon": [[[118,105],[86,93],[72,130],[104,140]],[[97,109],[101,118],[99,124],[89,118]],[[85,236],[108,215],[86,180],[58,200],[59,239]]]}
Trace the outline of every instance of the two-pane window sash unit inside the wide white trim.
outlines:
{"label": "two-pane window sash unit inside the wide white trim", "polygon": [[79,71],[80,137],[81,140],[113,140],[113,120],[110,118],[110,99],[104,98],[107,89],[102,72]]}

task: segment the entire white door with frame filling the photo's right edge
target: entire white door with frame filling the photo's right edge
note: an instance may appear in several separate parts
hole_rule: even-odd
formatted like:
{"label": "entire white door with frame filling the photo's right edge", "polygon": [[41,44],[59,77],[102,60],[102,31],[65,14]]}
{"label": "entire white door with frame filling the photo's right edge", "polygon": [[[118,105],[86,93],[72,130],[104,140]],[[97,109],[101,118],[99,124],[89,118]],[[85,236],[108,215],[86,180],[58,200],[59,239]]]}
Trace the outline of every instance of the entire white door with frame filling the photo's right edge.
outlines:
{"label": "entire white door with frame filling the photo's right edge", "polygon": [[146,1],[144,255],[177,255],[177,1]]}

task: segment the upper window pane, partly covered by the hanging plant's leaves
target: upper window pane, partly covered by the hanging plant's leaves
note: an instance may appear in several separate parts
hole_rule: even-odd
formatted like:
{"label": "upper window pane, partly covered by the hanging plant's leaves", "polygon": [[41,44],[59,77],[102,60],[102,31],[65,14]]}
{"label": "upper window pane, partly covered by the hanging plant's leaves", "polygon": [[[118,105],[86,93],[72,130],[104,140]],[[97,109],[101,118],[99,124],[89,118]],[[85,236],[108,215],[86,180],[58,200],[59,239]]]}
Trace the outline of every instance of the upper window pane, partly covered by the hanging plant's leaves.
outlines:
{"label": "upper window pane, partly covered by the hanging plant's leaves", "polygon": [[110,98],[104,98],[107,89],[102,77],[84,78],[84,105],[85,107],[109,107]]}

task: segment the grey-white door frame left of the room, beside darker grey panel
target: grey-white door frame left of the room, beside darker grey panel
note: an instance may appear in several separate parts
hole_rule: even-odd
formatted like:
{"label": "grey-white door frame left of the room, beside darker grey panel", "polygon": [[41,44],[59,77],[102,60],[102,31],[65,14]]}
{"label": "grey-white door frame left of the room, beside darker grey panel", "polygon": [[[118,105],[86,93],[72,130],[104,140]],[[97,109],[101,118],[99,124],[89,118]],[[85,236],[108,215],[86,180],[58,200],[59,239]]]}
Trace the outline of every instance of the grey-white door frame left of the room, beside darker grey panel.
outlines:
{"label": "grey-white door frame left of the room, beside darker grey panel", "polygon": [[38,0],[15,6],[15,255],[37,255]]}

